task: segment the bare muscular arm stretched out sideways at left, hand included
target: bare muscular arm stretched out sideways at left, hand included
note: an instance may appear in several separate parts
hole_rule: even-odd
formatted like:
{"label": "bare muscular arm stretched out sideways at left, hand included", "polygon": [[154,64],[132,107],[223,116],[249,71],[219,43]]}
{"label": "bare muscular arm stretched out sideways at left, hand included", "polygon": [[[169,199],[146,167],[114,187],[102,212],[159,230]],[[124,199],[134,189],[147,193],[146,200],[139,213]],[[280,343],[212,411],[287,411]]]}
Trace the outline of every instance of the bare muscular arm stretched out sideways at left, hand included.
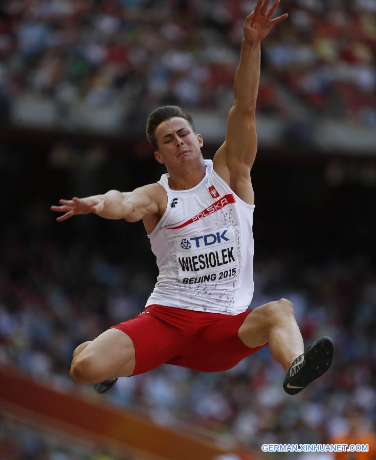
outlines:
{"label": "bare muscular arm stretched out sideways at left, hand included", "polygon": [[86,198],[74,197],[71,200],[59,200],[60,206],[51,206],[51,210],[64,215],[56,220],[61,222],[78,214],[97,214],[105,219],[126,219],[136,222],[147,215],[163,214],[167,198],[164,189],[157,183],[135,189],[133,192],[110,190],[104,195]]}

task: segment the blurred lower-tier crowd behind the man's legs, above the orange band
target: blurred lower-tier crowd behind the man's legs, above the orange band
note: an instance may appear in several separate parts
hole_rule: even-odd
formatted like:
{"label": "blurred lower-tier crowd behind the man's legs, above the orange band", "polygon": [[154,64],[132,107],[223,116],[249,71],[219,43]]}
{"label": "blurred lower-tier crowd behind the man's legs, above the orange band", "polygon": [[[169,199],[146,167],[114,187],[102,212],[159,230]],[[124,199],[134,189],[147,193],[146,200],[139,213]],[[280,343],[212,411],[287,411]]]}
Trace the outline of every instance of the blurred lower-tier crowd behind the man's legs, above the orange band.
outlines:
{"label": "blurred lower-tier crowd behind the man's legs, above the orange band", "polygon": [[[69,379],[73,350],[142,311],[153,287],[150,274],[114,262],[94,241],[75,238],[69,249],[48,238],[33,241],[13,238],[0,249],[0,364],[16,365],[58,389],[94,395],[91,385]],[[333,337],[333,367],[299,396],[283,392],[284,372],[264,349],[225,373],[162,365],[119,379],[100,398],[158,424],[208,432],[222,445],[258,451],[263,443],[329,442],[348,429],[354,411],[365,429],[374,427],[376,272],[366,256],[299,260],[292,252],[256,259],[251,305],[287,297],[306,345]]]}

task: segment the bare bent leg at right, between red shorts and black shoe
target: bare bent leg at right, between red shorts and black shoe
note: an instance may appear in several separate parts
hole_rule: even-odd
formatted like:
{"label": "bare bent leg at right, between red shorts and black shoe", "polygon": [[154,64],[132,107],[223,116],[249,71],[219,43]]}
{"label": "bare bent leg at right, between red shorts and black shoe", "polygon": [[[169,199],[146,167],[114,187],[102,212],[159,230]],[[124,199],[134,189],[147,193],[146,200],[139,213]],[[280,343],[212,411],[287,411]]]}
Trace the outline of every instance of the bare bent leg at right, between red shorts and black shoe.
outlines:
{"label": "bare bent leg at right, between red shorts and black shoe", "polygon": [[289,370],[294,359],[304,353],[294,306],[285,298],[253,310],[240,326],[238,336],[251,348],[269,342],[272,358],[282,364],[285,372]]}

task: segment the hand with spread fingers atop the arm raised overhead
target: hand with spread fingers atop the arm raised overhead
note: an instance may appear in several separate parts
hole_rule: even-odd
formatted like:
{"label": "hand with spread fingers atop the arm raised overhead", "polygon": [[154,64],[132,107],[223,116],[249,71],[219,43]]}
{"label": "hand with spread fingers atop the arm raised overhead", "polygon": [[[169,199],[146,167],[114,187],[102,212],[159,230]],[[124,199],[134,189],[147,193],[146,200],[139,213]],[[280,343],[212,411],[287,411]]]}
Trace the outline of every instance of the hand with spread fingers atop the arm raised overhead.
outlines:
{"label": "hand with spread fingers atop the arm raised overhead", "polygon": [[269,34],[275,24],[283,21],[289,16],[285,13],[271,19],[279,5],[279,0],[276,0],[268,11],[269,2],[270,0],[258,0],[255,10],[246,17],[244,22],[244,38],[246,41],[250,43],[259,43]]}

